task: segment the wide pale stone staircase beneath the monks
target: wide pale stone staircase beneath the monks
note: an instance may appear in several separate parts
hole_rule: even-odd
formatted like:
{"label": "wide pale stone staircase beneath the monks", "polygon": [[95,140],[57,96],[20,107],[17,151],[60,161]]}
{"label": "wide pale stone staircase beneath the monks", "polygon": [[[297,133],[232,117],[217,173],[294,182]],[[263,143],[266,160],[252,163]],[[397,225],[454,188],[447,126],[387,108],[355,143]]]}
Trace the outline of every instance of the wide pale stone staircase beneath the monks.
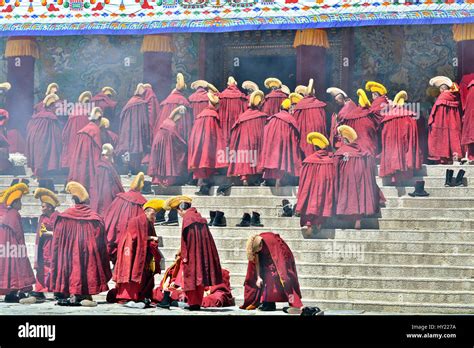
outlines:
{"label": "wide pale stone staircase beneath the monks", "polygon": [[[378,178],[386,198],[379,216],[364,219],[362,230],[332,219],[314,238],[304,239],[299,218],[279,217],[281,201],[296,201],[297,187],[232,187],[230,196],[194,195],[193,186],[156,188],[156,196],[193,196],[194,206],[209,218],[210,210],[225,212],[228,227],[211,227],[222,266],[229,269],[237,303],[242,303],[247,261],[245,243],[251,234],[279,233],[292,249],[303,302],[324,309],[400,313],[474,313],[474,186],[444,187],[447,168],[423,166],[414,180],[425,180],[426,198],[407,195],[413,187],[394,187]],[[0,189],[13,177],[0,177]],[[122,177],[125,187],[132,178]],[[413,181],[414,181],[413,180]],[[62,189],[63,181],[57,188]],[[32,190],[35,183],[31,182]],[[151,196],[150,196],[151,197]],[[59,198],[64,209],[70,201]],[[262,228],[238,228],[244,212],[258,211]],[[39,203],[28,195],[22,216],[37,217]],[[167,264],[180,244],[180,227],[157,227]],[[34,236],[27,235],[32,246]],[[32,250],[32,249],[29,249]],[[30,255],[33,259],[34,255]]]}

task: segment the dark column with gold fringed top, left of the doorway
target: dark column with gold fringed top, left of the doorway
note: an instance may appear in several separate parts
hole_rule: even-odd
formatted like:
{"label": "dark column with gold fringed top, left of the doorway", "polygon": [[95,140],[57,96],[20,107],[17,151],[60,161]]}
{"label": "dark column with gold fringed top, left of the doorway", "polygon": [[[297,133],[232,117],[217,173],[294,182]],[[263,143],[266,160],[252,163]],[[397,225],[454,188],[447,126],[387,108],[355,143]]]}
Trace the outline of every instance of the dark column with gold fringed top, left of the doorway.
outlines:
{"label": "dark column with gold fringed top, left of the doorway", "polygon": [[171,62],[173,42],[169,35],[145,35],[143,53],[143,82],[150,83],[159,100],[173,88]]}

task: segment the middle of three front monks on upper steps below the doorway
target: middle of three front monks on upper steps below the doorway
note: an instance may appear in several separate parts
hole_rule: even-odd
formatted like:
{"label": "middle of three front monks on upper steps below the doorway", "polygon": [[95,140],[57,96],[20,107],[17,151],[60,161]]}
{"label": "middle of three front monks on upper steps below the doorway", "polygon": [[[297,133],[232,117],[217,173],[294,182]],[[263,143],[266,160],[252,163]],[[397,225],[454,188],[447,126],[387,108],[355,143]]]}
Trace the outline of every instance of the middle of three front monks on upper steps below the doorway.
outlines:
{"label": "middle of three front monks on upper steps below the doorway", "polygon": [[231,130],[228,176],[239,176],[244,186],[256,182],[262,171],[258,160],[262,155],[263,135],[268,115],[260,111],[263,92],[250,96],[249,107],[239,115]]}

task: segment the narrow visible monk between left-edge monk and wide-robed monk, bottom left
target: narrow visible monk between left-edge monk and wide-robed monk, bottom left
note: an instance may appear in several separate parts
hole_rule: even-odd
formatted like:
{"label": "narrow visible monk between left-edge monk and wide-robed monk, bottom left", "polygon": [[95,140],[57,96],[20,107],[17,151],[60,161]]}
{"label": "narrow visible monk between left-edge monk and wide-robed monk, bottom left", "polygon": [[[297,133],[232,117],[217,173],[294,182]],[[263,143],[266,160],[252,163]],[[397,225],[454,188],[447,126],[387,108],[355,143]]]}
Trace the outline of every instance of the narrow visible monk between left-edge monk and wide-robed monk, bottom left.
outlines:
{"label": "narrow visible monk between left-edge monk and wide-robed monk, bottom left", "polygon": [[35,292],[32,295],[44,299],[44,292],[49,291],[53,227],[59,214],[56,208],[59,207],[60,203],[55,193],[46,188],[37,188],[34,196],[41,202],[41,216],[36,231],[36,284]]}

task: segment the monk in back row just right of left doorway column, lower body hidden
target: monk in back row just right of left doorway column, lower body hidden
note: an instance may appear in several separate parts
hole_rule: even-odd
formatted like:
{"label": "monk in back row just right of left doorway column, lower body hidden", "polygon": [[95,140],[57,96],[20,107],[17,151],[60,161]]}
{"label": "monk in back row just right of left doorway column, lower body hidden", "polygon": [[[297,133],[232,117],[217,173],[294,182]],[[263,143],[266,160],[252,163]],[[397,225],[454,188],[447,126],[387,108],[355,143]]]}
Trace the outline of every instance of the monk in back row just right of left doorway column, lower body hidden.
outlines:
{"label": "monk in back row just right of left doorway column, lower body hidden", "polygon": [[[181,73],[176,75],[176,88],[171,91],[170,95],[166,97],[160,104],[161,112],[160,117],[157,119],[153,127],[153,134],[159,129],[161,124],[170,116],[171,112],[178,106],[183,105],[186,107],[186,113],[181,117],[181,122],[178,125],[178,134],[181,138],[189,139],[189,134],[193,127],[193,115],[192,108],[189,101],[184,96],[183,91],[186,89],[186,83],[184,82],[184,76]],[[195,115],[197,116],[197,115]]]}

